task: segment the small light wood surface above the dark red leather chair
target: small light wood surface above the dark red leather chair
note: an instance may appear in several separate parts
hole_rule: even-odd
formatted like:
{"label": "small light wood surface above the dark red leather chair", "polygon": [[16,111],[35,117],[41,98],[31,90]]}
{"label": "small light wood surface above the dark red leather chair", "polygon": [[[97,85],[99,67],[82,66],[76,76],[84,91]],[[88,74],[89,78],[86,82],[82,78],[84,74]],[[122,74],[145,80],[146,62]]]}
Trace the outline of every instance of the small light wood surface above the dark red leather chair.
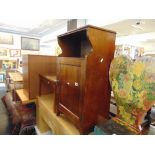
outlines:
{"label": "small light wood surface above the dark red leather chair", "polygon": [[36,99],[30,100],[28,96],[28,92],[26,89],[17,89],[16,94],[19,97],[22,104],[29,104],[32,102],[36,102]]}

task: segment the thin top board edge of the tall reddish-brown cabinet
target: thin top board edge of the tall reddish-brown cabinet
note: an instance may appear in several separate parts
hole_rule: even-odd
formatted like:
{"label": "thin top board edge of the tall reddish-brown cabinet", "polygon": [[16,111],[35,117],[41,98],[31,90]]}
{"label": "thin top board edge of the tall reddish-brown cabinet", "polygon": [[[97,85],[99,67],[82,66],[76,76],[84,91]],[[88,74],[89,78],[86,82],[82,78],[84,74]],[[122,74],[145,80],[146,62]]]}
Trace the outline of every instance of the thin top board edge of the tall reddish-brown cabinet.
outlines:
{"label": "thin top board edge of the tall reddish-brown cabinet", "polygon": [[87,30],[88,28],[98,29],[98,30],[101,30],[101,31],[107,31],[107,32],[115,33],[116,34],[115,31],[107,30],[107,29],[104,29],[104,28],[101,28],[101,27],[97,27],[97,26],[93,26],[93,25],[86,25],[86,26],[83,26],[83,27],[71,30],[69,32],[66,32],[64,34],[58,35],[58,38],[59,37],[63,37],[63,36],[67,36],[69,34],[73,34],[73,33],[76,33],[76,32],[80,32],[80,31],[83,31],[83,30]]}

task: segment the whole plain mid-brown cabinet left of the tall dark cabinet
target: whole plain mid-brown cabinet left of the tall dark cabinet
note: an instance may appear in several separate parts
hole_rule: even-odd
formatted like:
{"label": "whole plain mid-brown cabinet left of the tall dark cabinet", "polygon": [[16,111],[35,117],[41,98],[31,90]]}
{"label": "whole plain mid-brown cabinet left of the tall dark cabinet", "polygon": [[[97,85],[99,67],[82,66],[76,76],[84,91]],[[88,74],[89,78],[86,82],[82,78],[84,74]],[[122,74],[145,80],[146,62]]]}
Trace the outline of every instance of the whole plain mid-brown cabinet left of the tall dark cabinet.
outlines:
{"label": "whole plain mid-brown cabinet left of the tall dark cabinet", "polygon": [[56,75],[56,56],[23,55],[24,89],[28,98],[39,95],[39,74]]}

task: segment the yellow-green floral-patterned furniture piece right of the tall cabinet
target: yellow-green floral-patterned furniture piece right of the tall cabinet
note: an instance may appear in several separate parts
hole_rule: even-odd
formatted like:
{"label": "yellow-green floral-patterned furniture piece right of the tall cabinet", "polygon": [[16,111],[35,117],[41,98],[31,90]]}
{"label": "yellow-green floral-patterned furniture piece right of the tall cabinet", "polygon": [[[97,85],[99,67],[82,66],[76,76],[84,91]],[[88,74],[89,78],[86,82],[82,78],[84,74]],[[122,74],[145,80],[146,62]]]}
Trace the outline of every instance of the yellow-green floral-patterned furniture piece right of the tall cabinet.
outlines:
{"label": "yellow-green floral-patterned furniture piece right of the tall cabinet", "polygon": [[[142,121],[155,104],[155,58],[135,61],[125,56],[113,59],[110,84],[117,105],[117,115],[99,124],[103,134],[142,134]],[[99,130],[98,130],[99,129]]]}

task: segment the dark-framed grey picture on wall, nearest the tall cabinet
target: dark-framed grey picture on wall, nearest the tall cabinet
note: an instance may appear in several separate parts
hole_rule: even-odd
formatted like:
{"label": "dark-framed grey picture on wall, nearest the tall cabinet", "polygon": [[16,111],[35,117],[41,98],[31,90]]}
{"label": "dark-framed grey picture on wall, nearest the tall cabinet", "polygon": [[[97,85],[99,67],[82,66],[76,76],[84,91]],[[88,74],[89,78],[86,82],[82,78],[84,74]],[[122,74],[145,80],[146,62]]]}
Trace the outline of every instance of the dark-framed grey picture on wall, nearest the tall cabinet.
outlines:
{"label": "dark-framed grey picture on wall, nearest the tall cabinet", "polygon": [[21,37],[21,49],[39,51],[40,40],[35,38]]}

